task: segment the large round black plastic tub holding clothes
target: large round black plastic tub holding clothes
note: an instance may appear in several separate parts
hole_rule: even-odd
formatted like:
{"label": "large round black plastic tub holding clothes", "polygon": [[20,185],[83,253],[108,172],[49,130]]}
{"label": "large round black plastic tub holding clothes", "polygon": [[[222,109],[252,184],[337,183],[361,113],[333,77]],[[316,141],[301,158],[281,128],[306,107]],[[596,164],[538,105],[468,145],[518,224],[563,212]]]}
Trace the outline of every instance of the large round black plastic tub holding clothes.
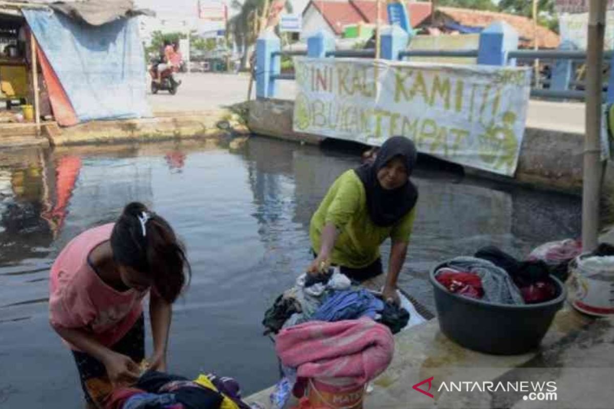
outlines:
{"label": "large round black plastic tub holding clothes", "polygon": [[551,276],[557,296],[540,304],[509,305],[449,292],[430,273],[441,332],[465,348],[486,354],[524,354],[537,348],[567,297],[565,286]]}

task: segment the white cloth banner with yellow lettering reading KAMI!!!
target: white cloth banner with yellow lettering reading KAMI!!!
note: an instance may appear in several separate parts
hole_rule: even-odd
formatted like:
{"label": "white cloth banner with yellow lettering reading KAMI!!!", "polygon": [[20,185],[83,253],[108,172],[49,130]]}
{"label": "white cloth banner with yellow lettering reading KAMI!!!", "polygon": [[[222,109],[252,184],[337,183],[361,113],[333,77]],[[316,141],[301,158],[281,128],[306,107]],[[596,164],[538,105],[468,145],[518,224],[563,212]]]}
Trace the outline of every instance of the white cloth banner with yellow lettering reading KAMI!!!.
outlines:
{"label": "white cloth banner with yellow lettering reading KAMI!!!", "polygon": [[293,130],[381,145],[406,136],[419,151],[513,175],[530,69],[295,58]]}

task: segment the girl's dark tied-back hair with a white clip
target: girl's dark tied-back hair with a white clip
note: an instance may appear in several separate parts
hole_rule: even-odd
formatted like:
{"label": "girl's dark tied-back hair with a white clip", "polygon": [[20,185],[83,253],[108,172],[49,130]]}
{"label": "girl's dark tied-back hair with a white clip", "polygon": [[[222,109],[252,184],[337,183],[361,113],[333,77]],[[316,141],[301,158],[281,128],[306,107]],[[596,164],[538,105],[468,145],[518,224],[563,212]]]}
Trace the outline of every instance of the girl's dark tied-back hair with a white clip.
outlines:
{"label": "girl's dark tied-back hair with a white clip", "polygon": [[192,277],[184,245],[173,228],[142,203],[123,209],[111,233],[111,249],[118,264],[152,275],[155,291],[166,302],[173,303]]}

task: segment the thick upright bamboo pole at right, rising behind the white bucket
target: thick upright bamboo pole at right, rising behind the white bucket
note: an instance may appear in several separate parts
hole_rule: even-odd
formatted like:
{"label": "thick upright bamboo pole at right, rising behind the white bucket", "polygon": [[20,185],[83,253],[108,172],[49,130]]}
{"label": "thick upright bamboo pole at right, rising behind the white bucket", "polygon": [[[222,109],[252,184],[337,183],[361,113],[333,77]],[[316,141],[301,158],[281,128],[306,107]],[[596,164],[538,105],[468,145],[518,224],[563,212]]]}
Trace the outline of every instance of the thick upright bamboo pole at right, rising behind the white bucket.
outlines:
{"label": "thick upright bamboo pole at right, rising behind the white bucket", "polygon": [[583,251],[597,247],[599,234],[599,200],[601,190],[601,96],[604,53],[605,9],[607,0],[591,0],[588,17],[586,54],[586,136],[582,192]]}

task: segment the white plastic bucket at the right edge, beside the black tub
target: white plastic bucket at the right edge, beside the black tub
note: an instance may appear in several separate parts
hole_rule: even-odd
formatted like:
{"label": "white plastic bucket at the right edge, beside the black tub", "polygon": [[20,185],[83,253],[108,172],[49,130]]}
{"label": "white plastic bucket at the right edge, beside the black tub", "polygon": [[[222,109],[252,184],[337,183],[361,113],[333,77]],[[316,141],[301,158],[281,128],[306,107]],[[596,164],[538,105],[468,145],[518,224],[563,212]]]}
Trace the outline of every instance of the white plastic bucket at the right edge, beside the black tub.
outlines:
{"label": "white plastic bucket at the right edge, beside the black tub", "polygon": [[[598,258],[595,264],[588,259]],[[578,256],[569,264],[570,299],[574,308],[594,316],[614,315],[614,257]]]}

